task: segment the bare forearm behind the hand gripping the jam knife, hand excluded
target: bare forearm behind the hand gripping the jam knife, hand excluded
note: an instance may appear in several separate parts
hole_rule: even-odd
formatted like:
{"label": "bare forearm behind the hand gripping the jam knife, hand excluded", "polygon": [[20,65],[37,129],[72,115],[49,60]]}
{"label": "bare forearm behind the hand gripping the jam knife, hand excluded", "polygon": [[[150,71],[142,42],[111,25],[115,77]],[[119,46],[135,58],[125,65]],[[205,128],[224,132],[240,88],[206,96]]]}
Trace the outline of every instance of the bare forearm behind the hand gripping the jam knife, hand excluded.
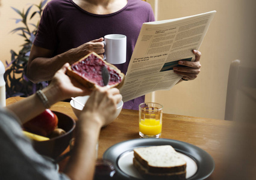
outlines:
{"label": "bare forearm behind the hand gripping the jam knife, hand excluded", "polygon": [[[64,171],[72,180],[93,179],[96,161],[96,145],[101,125],[92,119],[84,119],[86,125],[78,124],[70,161]],[[82,128],[84,127],[84,128]]]}

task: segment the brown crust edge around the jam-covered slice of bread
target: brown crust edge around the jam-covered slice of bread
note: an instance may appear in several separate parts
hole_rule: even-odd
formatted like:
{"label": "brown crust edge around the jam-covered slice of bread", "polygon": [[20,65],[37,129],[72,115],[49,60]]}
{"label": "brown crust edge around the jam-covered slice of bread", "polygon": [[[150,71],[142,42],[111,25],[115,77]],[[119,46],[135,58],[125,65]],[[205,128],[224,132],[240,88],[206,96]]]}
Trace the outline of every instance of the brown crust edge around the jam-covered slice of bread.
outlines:
{"label": "brown crust edge around the jam-covered slice of bread", "polygon": [[[102,62],[104,62],[105,65],[107,65],[108,68],[113,69],[117,72],[117,74],[119,74],[121,81],[120,83],[116,83],[113,85],[110,85],[110,88],[118,88],[120,89],[123,85],[123,82],[125,80],[125,74],[123,74],[116,66],[114,66],[113,64],[110,64],[106,61],[104,61],[101,56],[99,56],[98,54],[96,54],[95,52],[89,53],[88,55],[84,56],[83,58],[81,58],[79,61],[75,62],[74,64],[83,61],[84,59],[87,59],[90,55],[93,55],[99,59],[101,59]],[[91,82],[89,79],[86,79],[86,77],[80,76],[80,74],[78,74],[76,71],[73,71],[71,68],[72,65],[70,65],[67,68],[67,76],[69,77],[73,77],[74,79],[76,79],[78,82],[80,82],[83,86],[85,86],[87,89],[95,89],[96,87],[98,87],[99,85],[96,85],[95,83]]]}

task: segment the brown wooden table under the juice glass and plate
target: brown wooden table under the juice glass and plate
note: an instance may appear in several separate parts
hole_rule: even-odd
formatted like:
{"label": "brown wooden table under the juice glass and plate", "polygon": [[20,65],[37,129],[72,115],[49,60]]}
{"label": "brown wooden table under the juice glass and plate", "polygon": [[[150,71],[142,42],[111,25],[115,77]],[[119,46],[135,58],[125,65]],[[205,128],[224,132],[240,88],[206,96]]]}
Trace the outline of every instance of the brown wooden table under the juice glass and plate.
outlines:
{"label": "brown wooden table under the juice glass and plate", "polygon": [[[12,104],[19,100],[22,100],[22,98],[11,97],[7,99],[6,104]],[[69,103],[58,102],[51,107],[51,110],[63,112],[77,120]],[[110,146],[124,140],[139,138],[138,116],[139,112],[137,110],[122,109],[114,122],[102,128],[99,136],[99,158]],[[215,163],[214,172],[207,179],[219,179],[218,176],[225,172],[225,169],[221,168],[224,154],[223,145],[228,140],[228,133],[232,130],[232,124],[231,121],[219,119],[164,113],[161,138],[191,143],[207,151],[213,157]]]}

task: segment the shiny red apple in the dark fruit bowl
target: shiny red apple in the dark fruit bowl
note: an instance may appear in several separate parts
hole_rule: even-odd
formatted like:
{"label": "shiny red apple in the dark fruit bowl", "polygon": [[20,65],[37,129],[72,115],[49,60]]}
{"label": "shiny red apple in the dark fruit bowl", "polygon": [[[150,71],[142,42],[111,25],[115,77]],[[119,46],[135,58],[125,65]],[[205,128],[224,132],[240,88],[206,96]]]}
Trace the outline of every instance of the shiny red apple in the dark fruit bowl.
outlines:
{"label": "shiny red apple in the dark fruit bowl", "polygon": [[23,124],[25,130],[40,136],[49,136],[58,125],[58,117],[49,109]]}

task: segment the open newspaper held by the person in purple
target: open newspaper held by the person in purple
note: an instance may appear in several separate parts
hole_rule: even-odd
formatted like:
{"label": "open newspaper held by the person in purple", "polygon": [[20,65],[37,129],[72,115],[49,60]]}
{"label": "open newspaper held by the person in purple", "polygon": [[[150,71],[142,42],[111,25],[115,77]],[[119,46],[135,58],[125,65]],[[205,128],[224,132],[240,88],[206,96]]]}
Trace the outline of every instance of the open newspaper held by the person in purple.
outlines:
{"label": "open newspaper held by the person in purple", "polygon": [[172,88],[182,77],[173,67],[195,61],[192,50],[199,49],[215,13],[143,23],[120,89],[123,101]]}

